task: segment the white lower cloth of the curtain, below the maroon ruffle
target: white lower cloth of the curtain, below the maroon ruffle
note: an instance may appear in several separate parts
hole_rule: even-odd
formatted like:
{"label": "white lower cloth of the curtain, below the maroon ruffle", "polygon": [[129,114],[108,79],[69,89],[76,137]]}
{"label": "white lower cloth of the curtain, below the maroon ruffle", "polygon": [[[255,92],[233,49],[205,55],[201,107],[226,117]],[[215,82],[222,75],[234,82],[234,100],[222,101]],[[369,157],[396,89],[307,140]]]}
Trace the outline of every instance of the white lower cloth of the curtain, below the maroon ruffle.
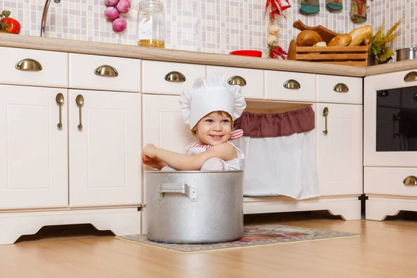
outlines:
{"label": "white lower cloth of the curtain, below the maroon ruffle", "polygon": [[243,136],[235,144],[245,153],[243,195],[319,196],[313,131],[275,138]]}

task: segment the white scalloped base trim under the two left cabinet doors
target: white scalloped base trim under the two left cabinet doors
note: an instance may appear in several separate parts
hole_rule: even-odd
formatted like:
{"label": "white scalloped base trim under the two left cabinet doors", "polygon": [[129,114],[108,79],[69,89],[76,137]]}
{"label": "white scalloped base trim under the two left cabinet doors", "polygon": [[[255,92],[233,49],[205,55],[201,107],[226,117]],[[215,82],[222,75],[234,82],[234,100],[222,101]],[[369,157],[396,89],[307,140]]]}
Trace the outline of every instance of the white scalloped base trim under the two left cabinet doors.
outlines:
{"label": "white scalloped base trim under the two left cabinet doors", "polygon": [[138,208],[0,213],[0,245],[13,244],[20,236],[36,234],[44,226],[64,224],[92,224],[117,236],[140,234],[140,216]]}

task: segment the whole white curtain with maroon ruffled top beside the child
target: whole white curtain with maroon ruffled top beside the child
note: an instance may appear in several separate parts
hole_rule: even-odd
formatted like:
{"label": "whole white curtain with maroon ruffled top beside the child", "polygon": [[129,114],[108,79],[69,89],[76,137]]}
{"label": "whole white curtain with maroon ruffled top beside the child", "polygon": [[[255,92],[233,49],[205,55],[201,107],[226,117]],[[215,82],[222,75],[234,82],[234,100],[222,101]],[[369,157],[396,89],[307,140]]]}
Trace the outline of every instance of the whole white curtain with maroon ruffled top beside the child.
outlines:
{"label": "whole white curtain with maroon ruffled top beside the child", "polygon": [[275,114],[244,112],[236,120],[243,137],[243,195],[318,197],[319,183],[311,107]]}

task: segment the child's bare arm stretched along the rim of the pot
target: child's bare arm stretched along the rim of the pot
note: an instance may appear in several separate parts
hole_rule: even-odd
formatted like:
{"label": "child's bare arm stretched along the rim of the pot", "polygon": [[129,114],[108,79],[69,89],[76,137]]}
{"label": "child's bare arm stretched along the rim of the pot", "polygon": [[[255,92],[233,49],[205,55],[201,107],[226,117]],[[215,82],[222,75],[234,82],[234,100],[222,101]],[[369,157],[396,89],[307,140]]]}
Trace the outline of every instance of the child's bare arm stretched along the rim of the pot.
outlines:
{"label": "child's bare arm stretched along the rim of the pot", "polygon": [[142,153],[145,155],[145,158],[158,158],[167,163],[167,165],[170,165],[170,167],[183,171],[200,170],[203,163],[213,157],[220,158],[224,161],[231,161],[238,157],[236,149],[227,142],[213,146],[208,151],[196,154],[195,156],[170,152],[152,144],[146,145]]}

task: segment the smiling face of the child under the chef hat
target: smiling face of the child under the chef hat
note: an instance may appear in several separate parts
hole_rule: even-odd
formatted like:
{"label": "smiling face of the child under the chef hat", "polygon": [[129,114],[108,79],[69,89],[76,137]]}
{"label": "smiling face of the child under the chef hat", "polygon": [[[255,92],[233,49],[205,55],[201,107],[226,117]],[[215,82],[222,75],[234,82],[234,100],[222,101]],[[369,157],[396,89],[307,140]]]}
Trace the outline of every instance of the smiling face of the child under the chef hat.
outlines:
{"label": "smiling face of the child under the chef hat", "polygon": [[200,144],[220,145],[231,136],[231,117],[225,112],[212,112],[197,123],[197,140]]}

